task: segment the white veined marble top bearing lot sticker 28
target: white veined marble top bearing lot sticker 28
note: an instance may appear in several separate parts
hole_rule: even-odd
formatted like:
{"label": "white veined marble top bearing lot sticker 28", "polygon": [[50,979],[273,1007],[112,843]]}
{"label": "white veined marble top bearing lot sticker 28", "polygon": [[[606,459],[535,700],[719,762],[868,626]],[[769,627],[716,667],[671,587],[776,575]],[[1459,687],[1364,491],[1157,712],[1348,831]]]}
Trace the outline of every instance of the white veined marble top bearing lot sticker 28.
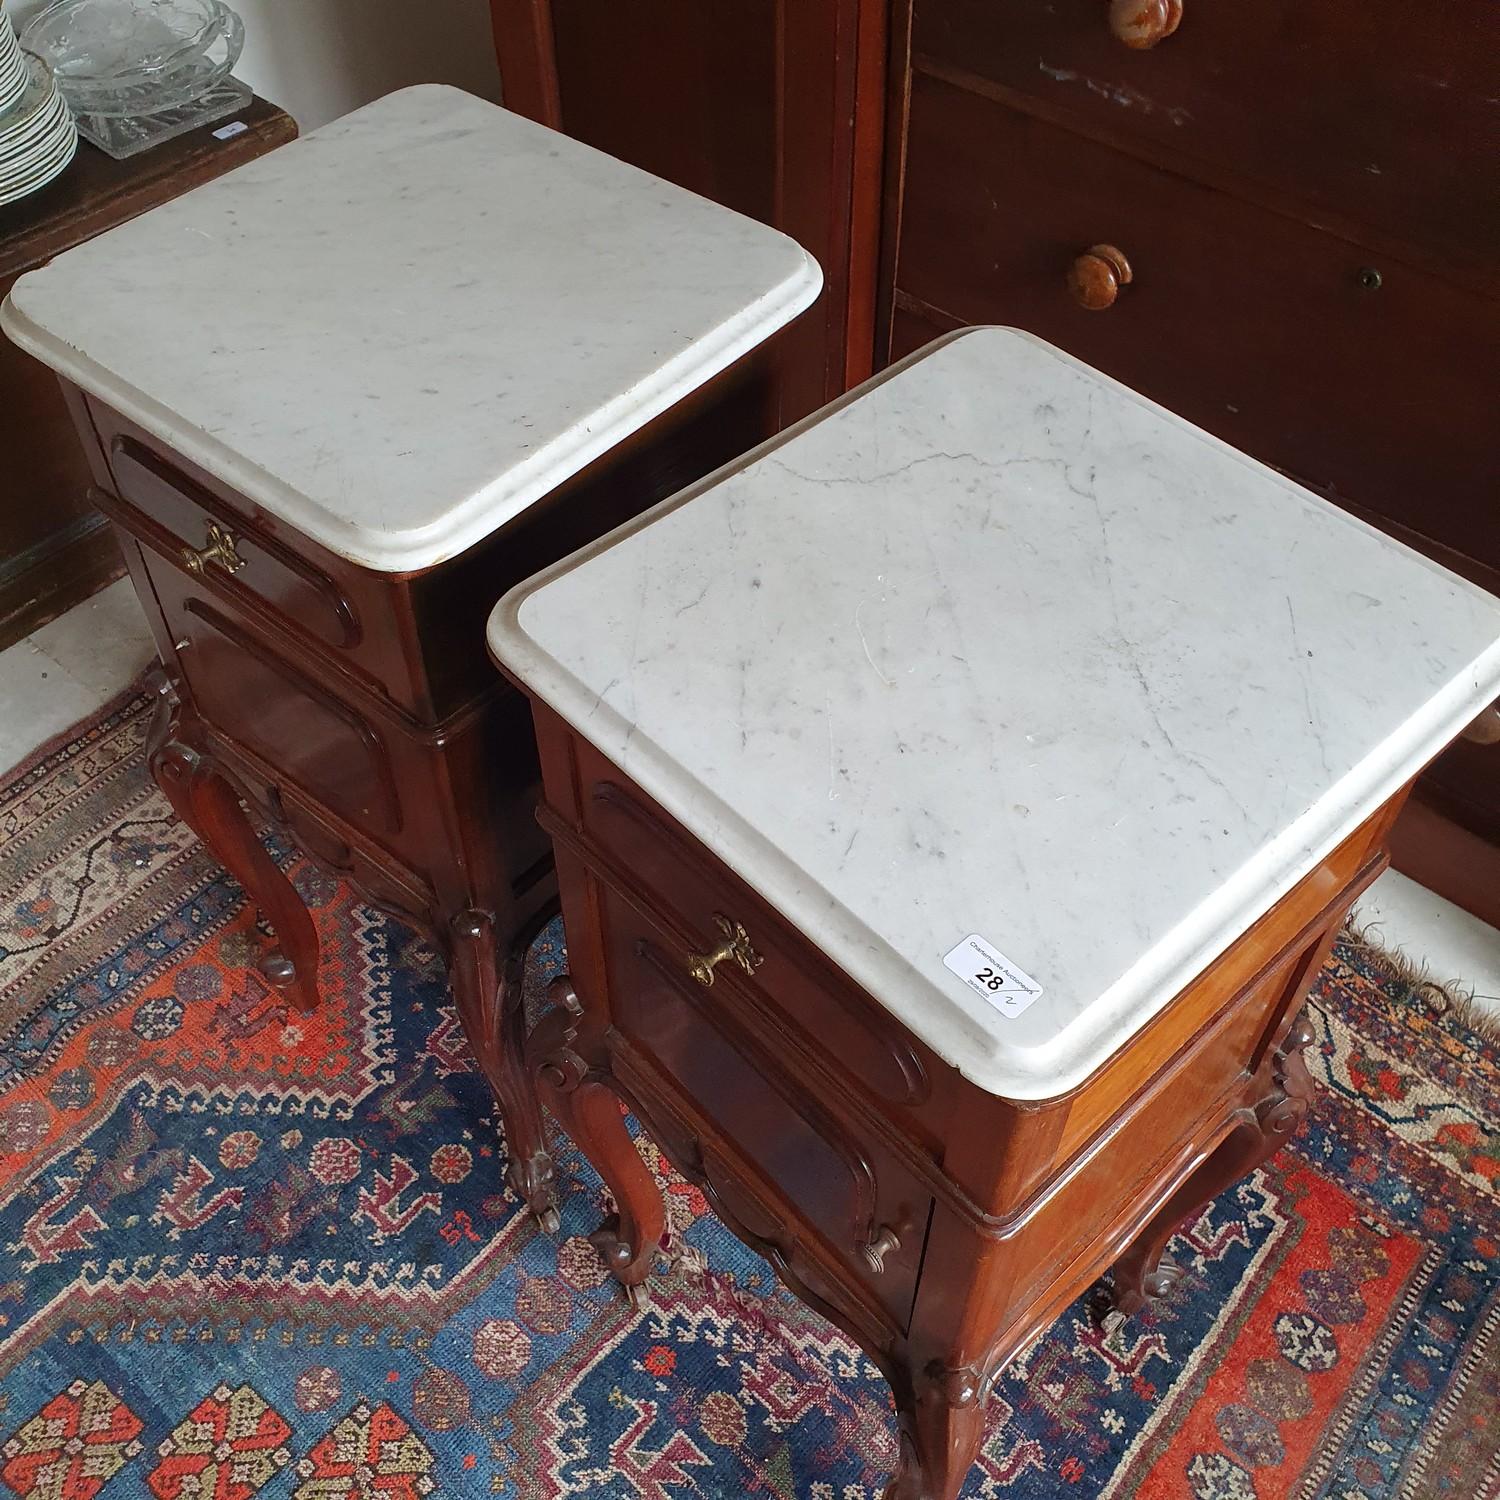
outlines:
{"label": "white veined marble top bearing lot sticker 28", "polygon": [[[1500,600],[1002,328],[520,585],[489,640],[1010,1098],[1083,1080],[1500,693]],[[969,934],[1041,994],[950,972]]]}

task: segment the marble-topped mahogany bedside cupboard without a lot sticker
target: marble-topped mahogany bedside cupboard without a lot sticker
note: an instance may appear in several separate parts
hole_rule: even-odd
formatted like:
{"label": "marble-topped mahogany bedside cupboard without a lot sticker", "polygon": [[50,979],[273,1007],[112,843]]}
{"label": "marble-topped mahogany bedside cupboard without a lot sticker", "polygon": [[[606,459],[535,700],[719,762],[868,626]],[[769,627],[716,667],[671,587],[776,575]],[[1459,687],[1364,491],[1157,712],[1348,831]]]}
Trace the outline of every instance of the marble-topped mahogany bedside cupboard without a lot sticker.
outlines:
{"label": "marble-topped mahogany bedside cupboard without a lot sticker", "polygon": [[510,1180],[554,1218],[519,978],[555,904],[516,582],[768,430],[744,356],[818,294],[776,231],[408,88],[22,276],[165,668],[152,765],[316,998],[246,798],[448,957]]}

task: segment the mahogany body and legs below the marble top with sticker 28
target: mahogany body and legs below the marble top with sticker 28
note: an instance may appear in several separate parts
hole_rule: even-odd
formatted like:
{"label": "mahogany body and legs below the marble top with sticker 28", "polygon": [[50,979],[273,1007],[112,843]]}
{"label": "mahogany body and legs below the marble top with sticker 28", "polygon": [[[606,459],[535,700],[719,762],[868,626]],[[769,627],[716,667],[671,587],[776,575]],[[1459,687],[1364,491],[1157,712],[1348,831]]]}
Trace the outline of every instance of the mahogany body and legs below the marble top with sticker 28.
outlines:
{"label": "mahogany body and legs below the marble top with sticker 28", "polygon": [[[963,1078],[550,710],[536,705],[570,975],[528,1052],[614,1191],[594,1236],[640,1288],[663,1227],[618,1098],[716,1212],[885,1370],[894,1500],[952,1500],[996,1372],[1112,1264],[1172,1281],[1172,1230],[1296,1128],[1304,994],[1386,864],[1382,807],[1059,1098]],[[760,963],[705,986],[740,922]]]}

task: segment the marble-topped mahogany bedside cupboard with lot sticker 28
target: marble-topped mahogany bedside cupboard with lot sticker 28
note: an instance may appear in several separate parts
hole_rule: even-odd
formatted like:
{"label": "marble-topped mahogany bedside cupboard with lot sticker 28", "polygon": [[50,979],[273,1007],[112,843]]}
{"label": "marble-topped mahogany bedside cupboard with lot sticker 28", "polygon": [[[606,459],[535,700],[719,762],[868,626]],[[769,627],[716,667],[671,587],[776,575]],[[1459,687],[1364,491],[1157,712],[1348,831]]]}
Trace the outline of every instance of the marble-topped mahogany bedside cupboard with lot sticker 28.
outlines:
{"label": "marble-topped mahogany bedside cupboard with lot sticker 28", "polygon": [[1500,603],[1066,354],[950,336],[507,594],[570,976],[530,1038],[620,1204],[616,1095],[890,1376],[952,1500],[1000,1366],[1113,1317],[1306,1108],[1306,990]]}

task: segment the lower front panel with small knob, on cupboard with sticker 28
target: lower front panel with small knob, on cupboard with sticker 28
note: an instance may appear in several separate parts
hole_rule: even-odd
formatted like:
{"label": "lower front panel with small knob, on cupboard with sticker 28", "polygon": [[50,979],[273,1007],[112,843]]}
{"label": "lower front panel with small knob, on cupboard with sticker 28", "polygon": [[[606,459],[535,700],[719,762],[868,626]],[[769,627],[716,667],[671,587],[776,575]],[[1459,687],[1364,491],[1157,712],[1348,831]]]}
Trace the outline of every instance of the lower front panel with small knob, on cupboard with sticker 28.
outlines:
{"label": "lower front panel with small knob, on cupboard with sticker 28", "polygon": [[812,1226],[822,1242],[814,1268],[904,1330],[932,1214],[928,1190],[784,1068],[736,1014],[728,987],[690,978],[678,944],[628,902],[606,890],[602,914],[614,1028],[670,1082],[676,1098],[664,1101],[668,1110],[711,1126],[711,1144],[700,1142],[700,1150],[716,1196],[746,1228],[776,1244],[794,1272],[808,1246],[790,1226]]}

